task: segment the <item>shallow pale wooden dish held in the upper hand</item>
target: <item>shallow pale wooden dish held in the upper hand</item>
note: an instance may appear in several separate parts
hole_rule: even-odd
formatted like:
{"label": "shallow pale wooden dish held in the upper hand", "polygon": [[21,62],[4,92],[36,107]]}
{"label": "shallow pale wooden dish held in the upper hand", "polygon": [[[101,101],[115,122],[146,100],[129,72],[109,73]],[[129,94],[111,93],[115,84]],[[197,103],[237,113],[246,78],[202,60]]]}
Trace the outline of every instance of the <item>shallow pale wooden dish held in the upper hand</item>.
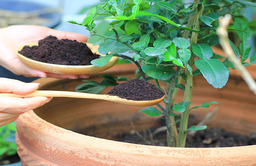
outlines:
{"label": "shallow pale wooden dish held in the upper hand", "polygon": [[[92,50],[93,53],[99,54],[101,56],[105,56],[98,52],[98,48],[99,48],[98,45],[94,46],[93,44],[90,44],[90,43],[86,43],[86,44]],[[38,45],[38,42],[26,44],[26,46],[35,46],[35,45]],[[48,73],[75,74],[75,75],[99,73],[100,71],[107,70],[110,67],[114,66],[118,60],[117,56],[113,56],[110,59],[110,61],[102,67],[95,66],[95,65],[86,65],[86,66],[56,65],[56,64],[51,64],[51,63],[35,61],[32,59],[26,58],[22,54],[19,54],[18,52],[21,51],[24,46],[25,45],[20,46],[17,50],[17,54],[18,54],[20,61],[32,69],[45,71]]]}

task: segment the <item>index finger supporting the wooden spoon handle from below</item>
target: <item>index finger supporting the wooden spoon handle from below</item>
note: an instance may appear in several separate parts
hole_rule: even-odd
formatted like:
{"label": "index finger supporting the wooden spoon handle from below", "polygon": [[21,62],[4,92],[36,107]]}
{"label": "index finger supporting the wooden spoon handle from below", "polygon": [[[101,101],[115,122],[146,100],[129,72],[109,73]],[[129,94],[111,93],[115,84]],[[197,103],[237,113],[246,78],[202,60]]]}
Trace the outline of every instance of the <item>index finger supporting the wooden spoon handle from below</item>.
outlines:
{"label": "index finger supporting the wooden spoon handle from below", "polygon": [[22,114],[34,108],[40,107],[48,103],[51,97],[30,97],[30,98],[0,98],[0,112]]}

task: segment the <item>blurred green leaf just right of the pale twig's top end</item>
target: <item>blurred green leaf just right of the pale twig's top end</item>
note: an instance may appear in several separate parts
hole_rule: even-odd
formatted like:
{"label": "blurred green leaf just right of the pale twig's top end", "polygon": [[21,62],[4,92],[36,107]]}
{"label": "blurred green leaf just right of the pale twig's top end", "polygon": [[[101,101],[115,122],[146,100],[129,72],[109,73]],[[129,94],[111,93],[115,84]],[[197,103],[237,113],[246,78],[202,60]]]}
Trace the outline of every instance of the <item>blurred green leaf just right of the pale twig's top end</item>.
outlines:
{"label": "blurred green leaf just right of the pale twig's top end", "polygon": [[234,27],[236,29],[241,29],[247,32],[245,33],[241,31],[236,31],[237,35],[240,37],[242,42],[245,43],[251,40],[251,37],[252,37],[251,29],[249,28],[248,24],[244,20],[242,20],[241,18],[235,18]]}

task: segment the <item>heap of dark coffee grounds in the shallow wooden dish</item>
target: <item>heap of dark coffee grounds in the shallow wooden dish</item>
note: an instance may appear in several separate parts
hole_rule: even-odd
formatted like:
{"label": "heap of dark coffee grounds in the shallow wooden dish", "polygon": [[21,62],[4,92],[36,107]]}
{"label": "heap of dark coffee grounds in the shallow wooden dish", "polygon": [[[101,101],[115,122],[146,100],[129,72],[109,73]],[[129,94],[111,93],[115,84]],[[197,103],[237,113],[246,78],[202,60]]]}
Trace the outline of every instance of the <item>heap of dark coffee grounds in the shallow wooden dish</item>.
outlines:
{"label": "heap of dark coffee grounds in the shallow wooden dish", "polygon": [[76,40],[57,39],[48,36],[39,40],[38,46],[25,46],[20,54],[29,59],[57,65],[92,65],[90,61],[97,59],[100,55],[92,53],[85,43]]}

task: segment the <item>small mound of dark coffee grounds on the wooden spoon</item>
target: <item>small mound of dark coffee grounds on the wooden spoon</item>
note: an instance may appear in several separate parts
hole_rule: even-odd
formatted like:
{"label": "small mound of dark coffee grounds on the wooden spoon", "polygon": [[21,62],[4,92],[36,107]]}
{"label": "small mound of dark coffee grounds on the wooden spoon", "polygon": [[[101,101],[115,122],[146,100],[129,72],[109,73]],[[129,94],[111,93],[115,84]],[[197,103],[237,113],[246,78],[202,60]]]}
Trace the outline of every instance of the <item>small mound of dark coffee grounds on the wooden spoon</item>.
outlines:
{"label": "small mound of dark coffee grounds on the wooden spoon", "polygon": [[129,82],[114,86],[107,95],[118,96],[128,100],[146,101],[162,98],[164,93],[156,85],[135,78]]}

